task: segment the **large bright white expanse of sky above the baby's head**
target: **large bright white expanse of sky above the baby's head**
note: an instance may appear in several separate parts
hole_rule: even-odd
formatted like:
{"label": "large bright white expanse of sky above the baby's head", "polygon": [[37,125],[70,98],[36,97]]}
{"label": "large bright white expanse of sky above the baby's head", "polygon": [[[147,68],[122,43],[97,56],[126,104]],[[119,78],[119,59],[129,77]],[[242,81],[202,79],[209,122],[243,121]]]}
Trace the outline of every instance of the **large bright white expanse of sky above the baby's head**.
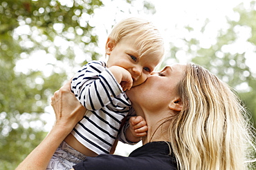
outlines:
{"label": "large bright white expanse of sky above the baby's head", "polygon": [[[134,6],[136,9],[143,8],[142,0],[136,0]],[[235,19],[237,15],[233,12],[232,8],[241,3],[242,0],[149,0],[155,8],[156,14],[139,14],[139,17],[145,17],[150,21],[153,21],[158,29],[166,38],[165,41],[172,41],[181,36],[183,33],[184,25],[191,25],[195,30],[201,29],[201,25],[205,22],[205,19],[210,20],[210,28],[207,39],[203,44],[205,47],[209,47],[210,43],[213,43],[214,36],[217,34],[217,30],[225,28],[226,17]],[[250,0],[244,0],[244,3]],[[113,19],[120,21],[125,17],[138,16],[136,11],[131,10],[132,14],[127,14],[127,10],[122,8],[124,6],[122,1],[106,1],[106,6],[95,11],[94,24],[102,33],[106,33],[103,29],[107,28],[111,31],[111,24],[114,23]],[[120,7],[121,6],[121,7]],[[118,12],[122,10],[123,12]],[[196,35],[195,35],[196,36]],[[102,39],[107,39],[107,34],[102,34]],[[104,43],[105,41],[100,41]],[[104,46],[104,44],[102,44]]]}

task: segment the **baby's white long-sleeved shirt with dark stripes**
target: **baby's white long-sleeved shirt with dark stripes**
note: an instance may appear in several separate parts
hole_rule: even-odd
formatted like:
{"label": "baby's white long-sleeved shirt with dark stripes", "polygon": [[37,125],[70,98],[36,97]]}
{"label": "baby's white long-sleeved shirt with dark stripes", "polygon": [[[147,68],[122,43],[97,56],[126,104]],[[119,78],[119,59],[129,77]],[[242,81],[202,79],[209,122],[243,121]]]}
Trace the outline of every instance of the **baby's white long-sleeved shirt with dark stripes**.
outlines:
{"label": "baby's white long-sleeved shirt with dark stripes", "polygon": [[[87,109],[84,118],[71,133],[95,153],[109,153],[122,120],[129,112],[129,98],[106,63],[101,61],[91,61],[84,65],[75,74],[71,90]],[[122,133],[122,142],[129,142]]]}

